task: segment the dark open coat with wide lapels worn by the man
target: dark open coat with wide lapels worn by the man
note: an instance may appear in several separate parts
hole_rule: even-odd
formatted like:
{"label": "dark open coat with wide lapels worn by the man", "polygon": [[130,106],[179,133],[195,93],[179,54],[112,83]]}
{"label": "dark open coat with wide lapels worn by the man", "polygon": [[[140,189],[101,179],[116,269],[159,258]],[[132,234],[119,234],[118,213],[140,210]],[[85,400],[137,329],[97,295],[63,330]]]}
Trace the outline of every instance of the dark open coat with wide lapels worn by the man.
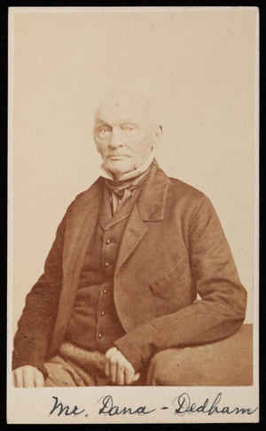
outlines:
{"label": "dark open coat with wide lapels worn by the man", "polygon": [[[104,187],[99,178],[67,209],[44,273],[27,295],[13,368],[43,370],[63,341]],[[157,351],[229,336],[245,319],[246,290],[212,204],[169,179],[156,161],[122,236],[113,295],[127,332],[115,345],[136,370]]]}

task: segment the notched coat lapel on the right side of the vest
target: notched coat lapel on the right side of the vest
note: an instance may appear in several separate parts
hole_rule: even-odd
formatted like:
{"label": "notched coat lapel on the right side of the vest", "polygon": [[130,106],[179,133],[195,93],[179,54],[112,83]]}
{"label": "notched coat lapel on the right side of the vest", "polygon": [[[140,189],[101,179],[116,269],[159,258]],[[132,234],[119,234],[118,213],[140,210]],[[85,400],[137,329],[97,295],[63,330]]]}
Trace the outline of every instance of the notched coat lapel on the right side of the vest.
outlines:
{"label": "notched coat lapel on the right side of the vest", "polygon": [[137,203],[131,212],[122,236],[114,276],[136,250],[139,242],[143,240],[148,230],[145,221],[161,221],[163,219],[169,182],[168,176],[158,167],[154,159],[151,172],[137,198]]}

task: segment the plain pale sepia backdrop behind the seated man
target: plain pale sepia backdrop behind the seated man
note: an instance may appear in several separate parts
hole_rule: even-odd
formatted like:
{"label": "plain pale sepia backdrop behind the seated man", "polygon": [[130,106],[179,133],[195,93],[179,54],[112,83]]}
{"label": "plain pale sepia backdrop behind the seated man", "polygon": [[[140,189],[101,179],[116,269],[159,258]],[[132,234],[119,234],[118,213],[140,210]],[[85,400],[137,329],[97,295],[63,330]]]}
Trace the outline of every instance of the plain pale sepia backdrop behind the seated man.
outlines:
{"label": "plain pale sepia backdrop behind the seated man", "polygon": [[214,204],[251,323],[255,10],[51,9],[21,10],[14,22],[14,331],[67,206],[98,178],[92,119],[98,99],[115,89],[156,96],[164,132],[159,165]]}

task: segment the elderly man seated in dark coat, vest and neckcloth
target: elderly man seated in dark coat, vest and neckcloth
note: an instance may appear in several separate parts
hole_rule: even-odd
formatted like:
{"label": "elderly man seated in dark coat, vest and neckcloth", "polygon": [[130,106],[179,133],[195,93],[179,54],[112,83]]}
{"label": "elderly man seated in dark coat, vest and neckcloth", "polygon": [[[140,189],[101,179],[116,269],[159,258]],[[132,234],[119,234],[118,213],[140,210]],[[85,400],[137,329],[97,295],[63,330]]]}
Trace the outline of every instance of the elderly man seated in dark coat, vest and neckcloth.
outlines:
{"label": "elderly man seated in dark coat, vest and neckcloth", "polygon": [[98,105],[100,177],[68,207],[27,295],[17,387],[145,384],[156,353],[242,324],[246,290],[219,219],[206,196],[158,166],[161,132],[149,97]]}

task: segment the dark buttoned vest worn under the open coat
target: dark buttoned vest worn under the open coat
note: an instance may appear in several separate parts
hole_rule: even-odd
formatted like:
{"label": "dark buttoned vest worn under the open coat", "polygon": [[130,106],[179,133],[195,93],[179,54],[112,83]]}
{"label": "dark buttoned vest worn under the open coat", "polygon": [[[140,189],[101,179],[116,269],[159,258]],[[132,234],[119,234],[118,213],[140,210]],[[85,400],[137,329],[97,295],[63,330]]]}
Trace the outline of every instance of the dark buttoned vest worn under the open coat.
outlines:
{"label": "dark buttoned vest worn under the open coat", "polygon": [[129,201],[112,216],[110,192],[105,189],[65,336],[66,341],[84,350],[105,353],[113,347],[115,340],[126,334],[113,302],[113,273],[121,237],[139,191],[136,189]]}

